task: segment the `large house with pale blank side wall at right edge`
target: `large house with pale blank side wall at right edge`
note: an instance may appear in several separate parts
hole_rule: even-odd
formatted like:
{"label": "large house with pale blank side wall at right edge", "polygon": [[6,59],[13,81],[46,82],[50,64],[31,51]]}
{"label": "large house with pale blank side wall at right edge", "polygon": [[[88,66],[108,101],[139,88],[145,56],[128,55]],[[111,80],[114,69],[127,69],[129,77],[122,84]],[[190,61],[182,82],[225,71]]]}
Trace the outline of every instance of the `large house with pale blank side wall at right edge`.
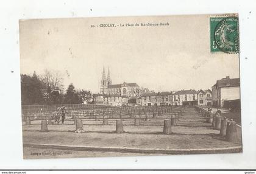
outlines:
{"label": "large house with pale blank side wall at right edge", "polygon": [[221,78],[212,86],[213,105],[222,107],[224,101],[240,100],[240,78]]}

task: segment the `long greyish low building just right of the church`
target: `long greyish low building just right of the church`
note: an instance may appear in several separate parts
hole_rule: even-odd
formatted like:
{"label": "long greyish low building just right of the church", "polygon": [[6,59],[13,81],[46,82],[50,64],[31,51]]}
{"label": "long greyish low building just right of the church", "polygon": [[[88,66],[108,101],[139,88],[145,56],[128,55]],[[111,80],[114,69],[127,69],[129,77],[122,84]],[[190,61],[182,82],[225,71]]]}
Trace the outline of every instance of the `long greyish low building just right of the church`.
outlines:
{"label": "long greyish low building just right of the church", "polygon": [[141,94],[141,105],[142,106],[163,106],[171,105],[172,103],[171,92],[148,92]]}

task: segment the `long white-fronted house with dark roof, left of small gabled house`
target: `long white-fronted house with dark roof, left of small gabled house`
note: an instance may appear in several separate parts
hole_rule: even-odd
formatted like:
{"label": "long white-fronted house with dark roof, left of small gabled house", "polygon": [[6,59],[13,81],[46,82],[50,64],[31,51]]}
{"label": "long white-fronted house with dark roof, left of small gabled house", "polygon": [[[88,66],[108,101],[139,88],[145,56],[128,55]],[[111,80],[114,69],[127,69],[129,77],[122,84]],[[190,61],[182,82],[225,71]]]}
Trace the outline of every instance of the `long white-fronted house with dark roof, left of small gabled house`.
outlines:
{"label": "long white-fronted house with dark roof, left of small gabled house", "polygon": [[197,91],[194,89],[177,91],[172,96],[172,105],[197,105]]}

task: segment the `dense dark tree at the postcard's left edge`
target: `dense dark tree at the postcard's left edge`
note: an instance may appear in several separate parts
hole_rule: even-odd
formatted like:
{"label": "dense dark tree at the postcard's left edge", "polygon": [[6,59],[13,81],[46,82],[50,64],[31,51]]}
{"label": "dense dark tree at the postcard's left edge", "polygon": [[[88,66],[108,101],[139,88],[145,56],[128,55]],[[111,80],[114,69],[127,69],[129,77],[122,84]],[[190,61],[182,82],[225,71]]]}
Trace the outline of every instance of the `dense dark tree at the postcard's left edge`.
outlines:
{"label": "dense dark tree at the postcard's left edge", "polygon": [[43,84],[36,72],[32,75],[21,74],[21,105],[43,103]]}

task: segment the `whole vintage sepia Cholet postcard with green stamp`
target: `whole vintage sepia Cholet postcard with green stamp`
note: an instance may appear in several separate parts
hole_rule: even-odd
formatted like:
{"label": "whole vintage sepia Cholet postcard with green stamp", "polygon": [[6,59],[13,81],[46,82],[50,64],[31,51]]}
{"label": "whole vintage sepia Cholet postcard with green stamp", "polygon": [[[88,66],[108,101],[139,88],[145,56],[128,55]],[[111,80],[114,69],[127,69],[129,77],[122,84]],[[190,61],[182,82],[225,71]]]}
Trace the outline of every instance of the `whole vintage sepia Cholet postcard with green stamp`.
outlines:
{"label": "whole vintage sepia Cholet postcard with green stamp", "polygon": [[238,22],[20,20],[24,159],[241,153]]}

